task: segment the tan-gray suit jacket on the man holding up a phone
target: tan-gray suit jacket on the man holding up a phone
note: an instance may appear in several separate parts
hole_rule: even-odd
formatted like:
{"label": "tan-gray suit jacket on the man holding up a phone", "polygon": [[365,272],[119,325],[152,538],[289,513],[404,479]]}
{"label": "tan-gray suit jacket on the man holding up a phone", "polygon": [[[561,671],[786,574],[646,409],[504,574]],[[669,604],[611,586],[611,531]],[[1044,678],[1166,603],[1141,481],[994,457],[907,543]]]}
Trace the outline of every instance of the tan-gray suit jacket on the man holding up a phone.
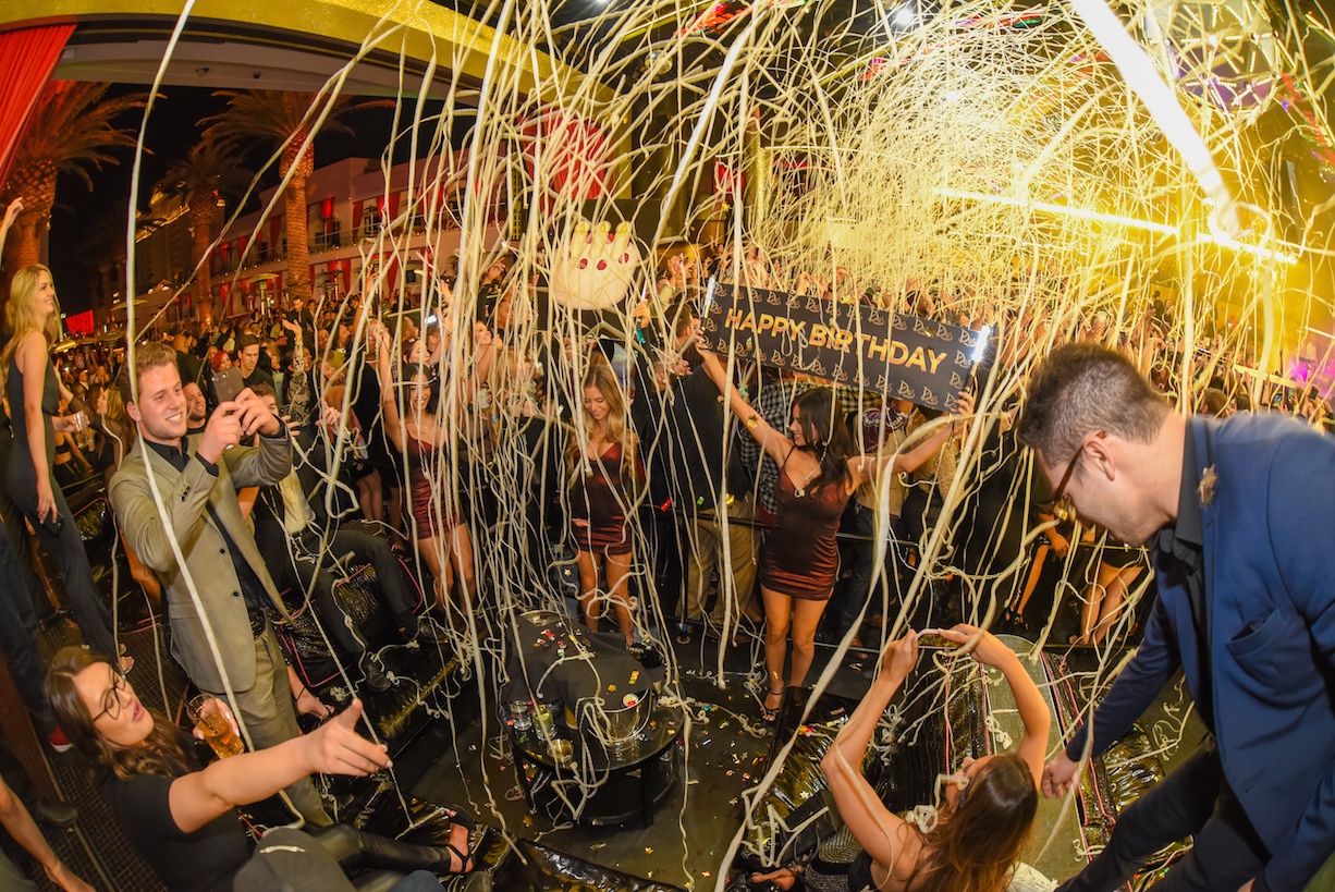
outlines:
{"label": "tan-gray suit jacket on the man holding up a phone", "polygon": [[[171,538],[175,535],[208,613],[227,677],[235,690],[248,690],[255,685],[255,638],[236,568],[227,551],[227,539],[206,506],[214,506],[227,535],[264,584],[274,606],[287,616],[274,580],[255,546],[255,537],[242,517],[236,490],[280,481],[292,466],[292,450],[286,438],[260,437],[259,447],[228,449],[218,465],[218,477],[214,477],[203,462],[194,458],[199,441],[198,434],[188,441],[191,459],[184,471],[178,471],[155,450],[146,453],[135,443],[120,470],[111,478],[111,505],[125,541],[163,582],[171,616],[172,656],[200,689],[212,693],[223,690],[222,674],[208,649],[199,610],[171,550]],[[166,523],[148,487],[150,467],[167,509]]]}

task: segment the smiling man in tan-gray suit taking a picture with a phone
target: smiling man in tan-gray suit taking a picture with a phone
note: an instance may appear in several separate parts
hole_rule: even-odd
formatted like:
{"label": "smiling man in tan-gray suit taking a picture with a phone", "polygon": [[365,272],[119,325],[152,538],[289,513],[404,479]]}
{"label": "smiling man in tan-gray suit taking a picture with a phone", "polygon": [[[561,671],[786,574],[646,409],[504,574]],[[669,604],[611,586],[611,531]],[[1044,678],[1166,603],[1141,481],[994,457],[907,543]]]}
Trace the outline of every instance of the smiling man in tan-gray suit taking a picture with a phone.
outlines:
{"label": "smiling man in tan-gray suit taking a picture with a phone", "polygon": [[[160,343],[142,345],[135,375],[138,399],[129,393],[128,371],[121,371],[119,383],[147,450],[135,443],[111,478],[111,503],[129,546],[162,580],[172,656],[200,690],[215,697],[226,697],[226,672],[236,694],[234,708],[256,746],[296,737],[300,729],[287,664],[264,614],[266,608],[284,616],[286,610],[236,501],[238,489],[276,483],[287,475],[292,466],[287,429],[263,401],[243,390],[214,410],[203,433],[187,437],[187,401],[175,351]],[[239,445],[256,433],[258,447]],[[150,489],[150,470],[163,511]],[[186,584],[187,570],[199,604]],[[310,778],[287,793],[310,824],[331,824]]]}

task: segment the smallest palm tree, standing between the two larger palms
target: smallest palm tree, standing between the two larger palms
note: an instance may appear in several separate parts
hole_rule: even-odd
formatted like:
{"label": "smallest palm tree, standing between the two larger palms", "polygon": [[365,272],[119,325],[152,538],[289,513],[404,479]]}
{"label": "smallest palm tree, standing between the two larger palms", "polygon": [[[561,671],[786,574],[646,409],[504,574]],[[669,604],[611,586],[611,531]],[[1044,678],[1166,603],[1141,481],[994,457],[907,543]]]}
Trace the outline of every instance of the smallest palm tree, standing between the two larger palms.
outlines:
{"label": "smallest palm tree, standing between the two larger palms", "polygon": [[[190,227],[198,272],[195,274],[195,307],[203,310],[212,300],[214,283],[206,255],[214,243],[212,226],[223,195],[246,188],[251,174],[240,167],[235,150],[216,139],[196,143],[186,158],[168,164],[158,182],[158,191],[166,198],[182,198],[190,208]],[[204,260],[200,263],[200,260]],[[222,318],[222,307],[214,314]]]}

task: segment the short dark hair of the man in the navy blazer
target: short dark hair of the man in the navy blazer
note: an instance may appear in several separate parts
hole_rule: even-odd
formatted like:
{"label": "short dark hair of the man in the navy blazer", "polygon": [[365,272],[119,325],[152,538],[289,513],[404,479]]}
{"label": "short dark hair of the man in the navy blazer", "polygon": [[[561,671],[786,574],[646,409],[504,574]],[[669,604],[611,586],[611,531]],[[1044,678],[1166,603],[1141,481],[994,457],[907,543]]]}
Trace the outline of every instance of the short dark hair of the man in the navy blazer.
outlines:
{"label": "short dark hair of the man in the navy blazer", "polygon": [[1167,415],[1163,394],[1120,353],[1067,343],[1049,353],[1029,379],[1017,437],[1055,466],[1099,431],[1148,443]]}

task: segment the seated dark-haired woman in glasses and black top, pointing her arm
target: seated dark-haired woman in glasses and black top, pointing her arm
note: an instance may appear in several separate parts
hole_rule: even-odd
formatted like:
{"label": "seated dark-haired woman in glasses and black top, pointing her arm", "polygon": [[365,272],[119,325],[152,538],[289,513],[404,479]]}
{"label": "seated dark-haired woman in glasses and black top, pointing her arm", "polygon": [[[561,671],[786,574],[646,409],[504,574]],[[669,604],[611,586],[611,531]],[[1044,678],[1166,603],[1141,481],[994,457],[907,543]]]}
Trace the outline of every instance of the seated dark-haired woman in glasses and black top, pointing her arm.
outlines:
{"label": "seated dark-haired woman in glasses and black top, pointing her arm", "polygon": [[[310,734],[199,770],[184,732],[146,708],[134,686],[99,654],[83,648],[57,652],[47,672],[47,698],[69,740],[103,769],[101,793],[121,831],[172,892],[230,892],[251,857],[238,805],[268,799],[316,772],[364,777],[390,766],[384,745],[356,733],[362,714],[356,700]],[[220,714],[235,730],[224,702],[211,700],[203,712]],[[410,872],[394,892],[435,892],[441,883],[434,873],[473,869],[471,827],[471,819],[455,813],[443,848],[338,824],[319,831],[318,841],[344,869]],[[383,883],[383,875],[374,879]],[[486,875],[473,879],[489,888]]]}

